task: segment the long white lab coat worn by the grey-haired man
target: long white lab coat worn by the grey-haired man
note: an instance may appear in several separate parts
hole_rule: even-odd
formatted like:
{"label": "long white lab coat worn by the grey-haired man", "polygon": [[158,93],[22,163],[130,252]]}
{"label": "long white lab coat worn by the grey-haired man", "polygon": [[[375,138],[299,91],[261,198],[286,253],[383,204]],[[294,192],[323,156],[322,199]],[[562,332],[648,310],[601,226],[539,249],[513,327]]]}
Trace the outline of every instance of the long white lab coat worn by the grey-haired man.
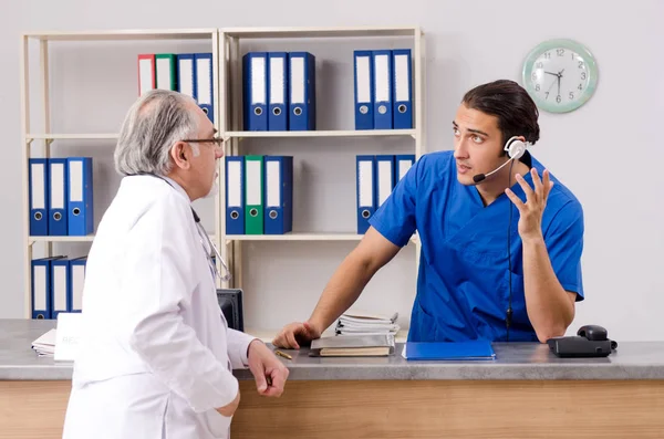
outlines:
{"label": "long white lab coat worn by the grey-haired man", "polygon": [[227,327],[189,198],[168,181],[123,178],[97,229],[64,439],[229,436],[215,408],[253,338]]}

